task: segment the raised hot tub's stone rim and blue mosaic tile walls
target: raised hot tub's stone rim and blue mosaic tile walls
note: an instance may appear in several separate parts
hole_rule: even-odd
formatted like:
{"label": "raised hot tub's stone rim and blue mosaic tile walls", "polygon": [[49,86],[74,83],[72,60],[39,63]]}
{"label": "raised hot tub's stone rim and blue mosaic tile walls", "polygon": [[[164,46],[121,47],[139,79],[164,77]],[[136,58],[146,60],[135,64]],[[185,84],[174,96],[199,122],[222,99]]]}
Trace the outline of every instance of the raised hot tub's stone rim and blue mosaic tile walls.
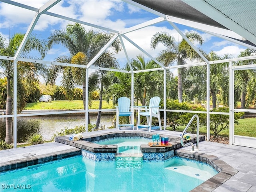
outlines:
{"label": "raised hot tub's stone rim and blue mosaic tile walls", "polygon": [[[91,136],[84,136],[81,140],[70,141],[67,136],[56,137],[55,141],[75,146],[82,149],[82,155],[94,161],[113,161],[118,155],[117,144],[98,144],[97,142],[113,138],[145,138],[151,139],[152,132],[145,131],[113,131]],[[171,147],[150,147],[141,144],[140,151],[143,154],[143,162],[164,162],[174,156],[174,150],[181,148],[180,137],[160,134],[160,137],[168,137]],[[205,140],[205,136],[199,136],[199,141]],[[191,136],[191,141],[196,143],[196,136]],[[185,143],[187,141],[184,141]]]}

